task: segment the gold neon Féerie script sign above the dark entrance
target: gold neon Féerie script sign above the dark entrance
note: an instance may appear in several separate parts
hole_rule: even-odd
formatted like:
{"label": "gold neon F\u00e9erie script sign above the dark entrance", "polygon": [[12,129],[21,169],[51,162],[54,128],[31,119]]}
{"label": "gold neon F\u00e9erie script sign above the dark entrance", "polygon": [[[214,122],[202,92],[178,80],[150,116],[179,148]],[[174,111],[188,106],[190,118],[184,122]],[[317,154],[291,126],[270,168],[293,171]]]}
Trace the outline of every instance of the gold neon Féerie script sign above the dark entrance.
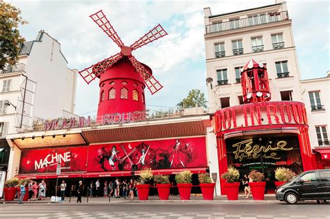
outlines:
{"label": "gold neon F\u00e9erie script sign above the dark entrance", "polygon": [[293,147],[288,147],[285,140],[280,140],[276,145],[271,145],[272,141],[269,141],[269,145],[253,145],[253,139],[242,140],[239,143],[233,145],[236,150],[233,152],[235,154],[235,159],[242,161],[244,158],[247,159],[257,159],[262,156],[263,158],[272,158],[279,160],[276,151],[291,151]]}

